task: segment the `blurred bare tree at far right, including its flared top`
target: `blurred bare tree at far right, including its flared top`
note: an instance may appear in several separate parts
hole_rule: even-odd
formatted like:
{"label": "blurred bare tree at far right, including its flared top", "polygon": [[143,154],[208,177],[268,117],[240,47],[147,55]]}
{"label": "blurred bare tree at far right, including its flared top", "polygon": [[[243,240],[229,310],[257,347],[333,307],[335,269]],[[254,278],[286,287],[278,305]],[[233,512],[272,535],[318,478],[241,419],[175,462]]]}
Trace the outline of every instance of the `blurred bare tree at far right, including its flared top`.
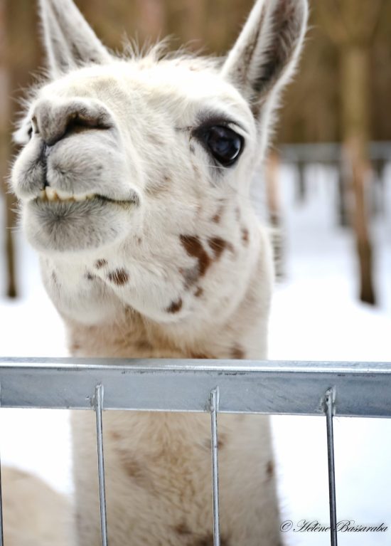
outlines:
{"label": "blurred bare tree at far right, including its flared top", "polygon": [[365,201],[370,179],[370,44],[384,0],[321,0],[319,9],[340,59],[344,171],[353,191],[353,228],[360,264],[360,300],[375,303],[373,257]]}

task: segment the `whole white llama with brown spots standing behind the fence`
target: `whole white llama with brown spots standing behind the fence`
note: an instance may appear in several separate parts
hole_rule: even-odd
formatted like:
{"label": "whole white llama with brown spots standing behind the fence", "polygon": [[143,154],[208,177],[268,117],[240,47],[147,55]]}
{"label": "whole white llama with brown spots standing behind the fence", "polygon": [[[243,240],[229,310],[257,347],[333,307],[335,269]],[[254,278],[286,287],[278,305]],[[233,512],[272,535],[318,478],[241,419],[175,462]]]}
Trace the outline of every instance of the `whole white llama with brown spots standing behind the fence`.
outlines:
{"label": "whole white llama with brown spots standing behind the fence", "polygon": [[[107,51],[41,0],[50,78],[11,182],[45,288],[83,357],[264,359],[272,292],[250,202],[306,0],[258,0],[225,60]],[[111,546],[212,545],[206,414],[104,415]],[[74,412],[78,546],[100,544],[95,425]],[[221,544],[277,546],[267,416],[219,416]]]}

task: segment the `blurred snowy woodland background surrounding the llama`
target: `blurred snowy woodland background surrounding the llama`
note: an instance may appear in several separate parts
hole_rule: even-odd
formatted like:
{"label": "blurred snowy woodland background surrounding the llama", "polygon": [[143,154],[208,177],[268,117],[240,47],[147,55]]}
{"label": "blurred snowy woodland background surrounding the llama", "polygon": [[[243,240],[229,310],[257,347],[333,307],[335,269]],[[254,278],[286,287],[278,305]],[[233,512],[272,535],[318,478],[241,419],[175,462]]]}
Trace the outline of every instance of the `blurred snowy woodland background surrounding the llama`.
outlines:
{"label": "blurred snowy woodland background surrounding the llama", "polygon": [[[142,45],[170,34],[173,49],[187,43],[219,55],[235,41],[252,4],[77,0],[114,50],[125,35]],[[4,182],[16,152],[17,99],[44,63],[37,28],[36,2],[0,0],[2,356],[67,354]],[[391,0],[312,0],[301,65],[253,186],[259,214],[277,228],[272,359],[391,361],[390,94]],[[62,416],[58,426],[53,412],[1,411],[3,460],[70,493],[68,419]],[[328,522],[323,425],[318,418],[273,419],[285,519]],[[337,419],[335,434],[339,519],[391,527],[390,421]],[[328,544],[325,533],[310,535],[286,533],[286,544]],[[391,530],[342,535],[340,542],[390,544]]]}

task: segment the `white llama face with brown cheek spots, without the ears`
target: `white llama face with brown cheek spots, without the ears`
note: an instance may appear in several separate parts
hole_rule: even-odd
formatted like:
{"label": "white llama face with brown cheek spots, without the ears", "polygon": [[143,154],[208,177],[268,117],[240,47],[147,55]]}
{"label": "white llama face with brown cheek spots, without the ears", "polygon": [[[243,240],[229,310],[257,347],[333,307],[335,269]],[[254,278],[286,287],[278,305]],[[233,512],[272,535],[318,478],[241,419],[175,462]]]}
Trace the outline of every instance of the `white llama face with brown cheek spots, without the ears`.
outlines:
{"label": "white llama face with brown cheek spots, without the ears", "polygon": [[[193,313],[218,279],[232,288],[227,268],[235,278],[252,261],[255,119],[213,66],[76,70],[38,92],[22,130],[14,187],[60,308],[67,259],[83,295],[95,286],[96,300],[114,293],[160,321]],[[84,302],[78,317],[91,308],[66,299]]]}

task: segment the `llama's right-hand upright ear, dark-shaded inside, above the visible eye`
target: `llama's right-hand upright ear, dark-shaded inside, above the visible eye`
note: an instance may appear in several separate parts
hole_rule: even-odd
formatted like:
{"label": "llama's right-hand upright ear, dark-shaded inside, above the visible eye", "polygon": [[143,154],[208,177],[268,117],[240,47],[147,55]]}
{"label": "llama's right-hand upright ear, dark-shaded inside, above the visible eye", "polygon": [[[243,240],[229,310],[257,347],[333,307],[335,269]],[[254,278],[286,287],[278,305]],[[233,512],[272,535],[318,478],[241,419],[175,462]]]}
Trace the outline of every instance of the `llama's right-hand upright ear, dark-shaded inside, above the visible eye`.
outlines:
{"label": "llama's right-hand upright ear, dark-shaded inside, above the visible eye", "polygon": [[255,114],[293,72],[307,19],[307,0],[257,0],[252,9],[223,65],[223,76],[240,90]]}

